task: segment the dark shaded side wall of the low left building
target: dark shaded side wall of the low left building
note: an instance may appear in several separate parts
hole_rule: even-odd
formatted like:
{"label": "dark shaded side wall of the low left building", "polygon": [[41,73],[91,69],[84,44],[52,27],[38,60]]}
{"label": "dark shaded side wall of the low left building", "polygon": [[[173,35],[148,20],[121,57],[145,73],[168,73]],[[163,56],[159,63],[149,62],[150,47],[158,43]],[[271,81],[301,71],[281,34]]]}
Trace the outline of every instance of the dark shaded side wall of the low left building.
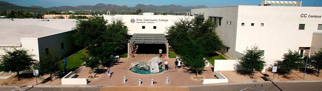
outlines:
{"label": "dark shaded side wall of the low left building", "polygon": [[[71,34],[73,34],[73,31],[67,31],[67,32],[53,34],[45,37],[39,37],[38,50],[39,50],[40,57],[42,56],[43,52],[45,52],[45,48],[49,48],[49,49],[56,48],[55,51],[57,52],[58,55],[61,55],[61,56],[65,56],[77,51],[79,47],[77,47],[73,42],[73,38],[71,37]],[[62,48],[61,43],[64,44],[64,48]]]}

